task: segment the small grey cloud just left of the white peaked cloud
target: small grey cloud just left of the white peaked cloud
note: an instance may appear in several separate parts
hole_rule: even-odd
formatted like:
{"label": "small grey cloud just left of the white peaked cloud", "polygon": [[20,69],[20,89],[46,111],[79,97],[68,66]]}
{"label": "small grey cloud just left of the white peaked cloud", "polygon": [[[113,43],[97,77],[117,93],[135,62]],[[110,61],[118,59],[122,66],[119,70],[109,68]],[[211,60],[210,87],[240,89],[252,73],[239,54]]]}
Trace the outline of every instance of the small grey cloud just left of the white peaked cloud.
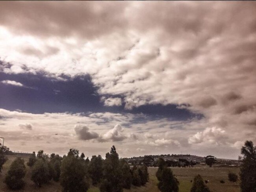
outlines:
{"label": "small grey cloud just left of the white peaked cloud", "polygon": [[81,140],[91,140],[99,137],[98,133],[89,131],[87,126],[76,125],[74,130],[76,131],[78,138]]}

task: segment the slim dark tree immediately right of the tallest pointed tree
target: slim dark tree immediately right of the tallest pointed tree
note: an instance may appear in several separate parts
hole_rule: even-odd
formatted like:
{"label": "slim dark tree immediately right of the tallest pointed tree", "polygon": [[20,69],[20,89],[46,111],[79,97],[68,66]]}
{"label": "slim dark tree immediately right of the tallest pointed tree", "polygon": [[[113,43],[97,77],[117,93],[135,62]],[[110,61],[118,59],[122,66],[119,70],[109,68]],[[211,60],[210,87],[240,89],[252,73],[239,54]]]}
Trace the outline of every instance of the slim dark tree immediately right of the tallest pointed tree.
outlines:
{"label": "slim dark tree immediately right of the tallest pointed tree", "polygon": [[130,165],[124,159],[121,159],[119,164],[121,169],[122,187],[125,189],[130,189],[132,184]]}

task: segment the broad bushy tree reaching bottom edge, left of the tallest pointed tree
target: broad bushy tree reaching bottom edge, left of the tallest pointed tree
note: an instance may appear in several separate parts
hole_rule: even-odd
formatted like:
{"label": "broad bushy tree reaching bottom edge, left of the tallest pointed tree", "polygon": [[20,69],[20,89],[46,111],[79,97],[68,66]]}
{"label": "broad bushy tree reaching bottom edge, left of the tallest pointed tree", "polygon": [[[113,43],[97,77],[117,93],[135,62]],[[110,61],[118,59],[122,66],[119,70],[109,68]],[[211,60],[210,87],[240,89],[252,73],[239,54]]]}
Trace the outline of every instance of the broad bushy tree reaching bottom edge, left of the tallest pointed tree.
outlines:
{"label": "broad bushy tree reaching bottom edge, left of the tallest pointed tree", "polygon": [[60,184],[63,192],[86,192],[89,183],[86,180],[84,160],[77,149],[70,149],[61,162]]}

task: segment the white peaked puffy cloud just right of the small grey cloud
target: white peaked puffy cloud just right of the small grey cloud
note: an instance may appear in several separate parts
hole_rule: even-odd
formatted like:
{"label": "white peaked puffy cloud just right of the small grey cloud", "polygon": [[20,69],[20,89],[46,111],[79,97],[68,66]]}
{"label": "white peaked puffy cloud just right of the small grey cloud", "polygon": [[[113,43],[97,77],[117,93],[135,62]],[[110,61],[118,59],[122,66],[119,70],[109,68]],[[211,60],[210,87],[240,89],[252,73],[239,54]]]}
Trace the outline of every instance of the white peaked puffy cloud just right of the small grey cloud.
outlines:
{"label": "white peaked puffy cloud just right of the small grey cloud", "polygon": [[126,139],[126,136],[122,134],[123,131],[124,129],[122,128],[122,126],[120,124],[117,124],[113,129],[102,135],[102,137],[99,138],[99,141],[122,141]]}

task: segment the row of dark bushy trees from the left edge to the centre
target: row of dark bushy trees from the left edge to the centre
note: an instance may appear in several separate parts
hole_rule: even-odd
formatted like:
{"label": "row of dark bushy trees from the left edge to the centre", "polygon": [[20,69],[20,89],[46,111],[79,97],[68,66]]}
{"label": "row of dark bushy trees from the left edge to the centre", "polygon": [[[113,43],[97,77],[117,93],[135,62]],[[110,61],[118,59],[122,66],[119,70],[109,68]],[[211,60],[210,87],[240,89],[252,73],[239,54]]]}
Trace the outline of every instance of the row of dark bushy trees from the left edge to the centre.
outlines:
{"label": "row of dark bushy trees from the left edge to the centre", "polygon": [[[1,159],[3,162],[7,160],[0,152],[0,162]],[[122,192],[123,188],[130,189],[131,185],[142,186],[148,182],[147,166],[142,164],[130,168],[124,159],[119,158],[115,146],[106,153],[105,159],[93,155],[91,161],[74,148],[63,157],[55,153],[47,155],[40,150],[37,155],[32,153],[27,166],[31,168],[31,180],[35,185],[41,187],[53,180],[60,183],[63,192],[86,192],[90,184],[98,186],[101,192]],[[4,182],[10,189],[22,189],[25,175],[24,159],[18,157],[11,163]]]}

